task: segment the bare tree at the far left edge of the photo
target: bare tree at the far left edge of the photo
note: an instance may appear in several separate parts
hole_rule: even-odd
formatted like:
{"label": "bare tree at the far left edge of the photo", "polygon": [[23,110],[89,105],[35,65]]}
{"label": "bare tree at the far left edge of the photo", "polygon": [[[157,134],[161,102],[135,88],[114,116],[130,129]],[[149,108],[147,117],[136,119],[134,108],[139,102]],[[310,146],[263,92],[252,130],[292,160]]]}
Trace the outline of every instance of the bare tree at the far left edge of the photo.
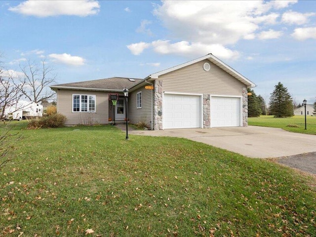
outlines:
{"label": "bare tree at the far left edge of the photo", "polygon": [[[5,75],[0,69],[0,120],[5,118],[9,109],[17,106],[22,96],[21,84],[14,83],[13,75],[10,75],[9,72],[7,74]],[[18,108],[16,109],[18,110]]]}

